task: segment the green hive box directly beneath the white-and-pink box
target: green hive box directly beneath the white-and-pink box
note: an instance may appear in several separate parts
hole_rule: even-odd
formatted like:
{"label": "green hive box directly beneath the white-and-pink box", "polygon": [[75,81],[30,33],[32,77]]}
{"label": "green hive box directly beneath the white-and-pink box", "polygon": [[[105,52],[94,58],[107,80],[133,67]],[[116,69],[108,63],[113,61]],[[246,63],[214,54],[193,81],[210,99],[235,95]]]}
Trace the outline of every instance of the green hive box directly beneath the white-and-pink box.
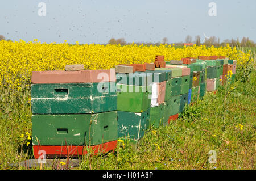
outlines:
{"label": "green hive box directly beneath the white-and-pink box", "polygon": [[163,124],[164,119],[164,104],[150,108],[150,125],[154,128],[159,128]]}

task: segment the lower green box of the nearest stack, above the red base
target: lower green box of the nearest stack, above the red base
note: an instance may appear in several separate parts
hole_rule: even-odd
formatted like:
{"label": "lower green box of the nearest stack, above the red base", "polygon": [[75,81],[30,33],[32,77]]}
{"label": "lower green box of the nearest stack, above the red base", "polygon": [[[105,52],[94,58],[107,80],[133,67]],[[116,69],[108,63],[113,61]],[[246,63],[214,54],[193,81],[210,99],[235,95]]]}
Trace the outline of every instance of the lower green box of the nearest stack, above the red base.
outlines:
{"label": "lower green box of the nearest stack, above the red base", "polygon": [[32,115],[33,145],[99,145],[114,140],[117,140],[117,111]]}

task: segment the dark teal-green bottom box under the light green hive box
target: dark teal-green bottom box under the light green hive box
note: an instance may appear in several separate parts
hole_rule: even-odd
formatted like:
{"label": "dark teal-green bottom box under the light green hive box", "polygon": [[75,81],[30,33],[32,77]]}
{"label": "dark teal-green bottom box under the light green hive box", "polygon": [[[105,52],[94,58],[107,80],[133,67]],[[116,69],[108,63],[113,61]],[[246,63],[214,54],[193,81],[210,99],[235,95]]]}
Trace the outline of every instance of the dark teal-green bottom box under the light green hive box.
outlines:
{"label": "dark teal-green bottom box under the light green hive box", "polygon": [[141,139],[150,124],[150,108],[142,113],[117,111],[117,137]]}

